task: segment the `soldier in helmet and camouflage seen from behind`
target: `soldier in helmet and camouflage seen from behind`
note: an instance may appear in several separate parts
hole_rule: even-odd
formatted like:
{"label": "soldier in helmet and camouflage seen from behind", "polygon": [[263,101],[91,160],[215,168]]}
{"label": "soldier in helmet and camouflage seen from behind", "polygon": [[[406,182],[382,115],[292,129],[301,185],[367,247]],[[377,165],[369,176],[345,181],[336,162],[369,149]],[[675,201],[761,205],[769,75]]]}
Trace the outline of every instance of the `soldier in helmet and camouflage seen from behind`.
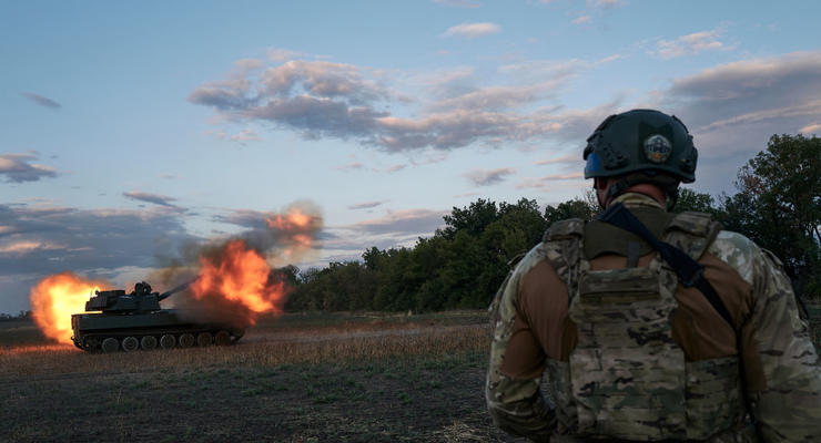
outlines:
{"label": "soldier in helmet and camouflage seen from behind", "polygon": [[635,110],[587,142],[607,210],[554,224],[496,295],[494,422],[544,442],[821,442],[819,359],[779,259],[667,212],[695,181],[683,123]]}

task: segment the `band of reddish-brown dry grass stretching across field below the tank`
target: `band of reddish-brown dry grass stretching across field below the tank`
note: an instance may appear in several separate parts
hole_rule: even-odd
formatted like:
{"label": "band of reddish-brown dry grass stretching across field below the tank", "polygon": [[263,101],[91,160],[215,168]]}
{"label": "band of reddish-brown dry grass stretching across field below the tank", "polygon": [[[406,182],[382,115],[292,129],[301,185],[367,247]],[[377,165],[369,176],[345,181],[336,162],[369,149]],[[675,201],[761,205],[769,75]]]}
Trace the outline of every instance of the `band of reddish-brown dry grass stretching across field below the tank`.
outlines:
{"label": "band of reddish-brown dry grass stretching across field below the tank", "polygon": [[359,323],[252,330],[236,346],[89,354],[68,344],[0,349],[0,377],[89,372],[141,372],[219,367],[277,367],[294,363],[379,360],[392,356],[446,356],[482,351],[489,343],[485,324],[446,327],[418,322]]}

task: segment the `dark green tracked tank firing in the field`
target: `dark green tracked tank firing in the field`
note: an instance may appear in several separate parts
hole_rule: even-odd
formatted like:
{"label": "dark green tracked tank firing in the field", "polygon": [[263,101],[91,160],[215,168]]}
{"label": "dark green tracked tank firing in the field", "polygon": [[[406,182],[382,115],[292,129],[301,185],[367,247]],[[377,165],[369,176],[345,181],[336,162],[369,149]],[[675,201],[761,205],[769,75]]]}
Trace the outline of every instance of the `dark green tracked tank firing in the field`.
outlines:
{"label": "dark green tracked tank firing in the field", "polygon": [[240,319],[211,316],[203,321],[209,317],[196,311],[162,309],[160,301],[192,282],[163,293],[152,292],[144,281],[136,284],[131,293],[122,289],[94,291],[85,302],[87,313],[71,316],[71,340],[89,352],[227,346],[240,340],[245,333]]}

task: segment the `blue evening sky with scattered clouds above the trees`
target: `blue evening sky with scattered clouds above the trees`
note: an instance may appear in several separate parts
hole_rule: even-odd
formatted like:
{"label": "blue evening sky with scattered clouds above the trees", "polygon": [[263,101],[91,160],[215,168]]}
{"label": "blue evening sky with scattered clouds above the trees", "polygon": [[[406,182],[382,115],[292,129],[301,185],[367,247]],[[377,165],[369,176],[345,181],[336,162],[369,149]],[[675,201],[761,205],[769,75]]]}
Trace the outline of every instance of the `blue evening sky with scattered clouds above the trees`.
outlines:
{"label": "blue evening sky with scattered clouds above the trees", "polygon": [[[754,4],[754,6],[753,6]],[[676,114],[688,187],[821,133],[821,3],[0,2],[0,312],[73,271],[132,285],[292,205],[305,269],[413,246],[478,198],[581,196],[608,115]],[[160,288],[162,289],[162,288]]]}

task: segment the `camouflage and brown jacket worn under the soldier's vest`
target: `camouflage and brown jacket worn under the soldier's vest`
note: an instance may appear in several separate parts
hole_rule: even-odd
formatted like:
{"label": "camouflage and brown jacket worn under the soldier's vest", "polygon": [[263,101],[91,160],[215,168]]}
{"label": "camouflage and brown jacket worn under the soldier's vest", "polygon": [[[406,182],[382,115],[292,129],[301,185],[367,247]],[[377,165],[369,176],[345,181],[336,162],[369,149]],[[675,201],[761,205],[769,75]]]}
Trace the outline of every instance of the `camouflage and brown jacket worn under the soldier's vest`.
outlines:
{"label": "camouflage and brown jacket worn under the soldier's vest", "polygon": [[[663,212],[655,200],[638,194],[617,200],[635,213],[641,208]],[[567,380],[547,380],[547,399],[540,390],[544,370],[556,374],[550,369],[566,363],[578,346],[577,326],[568,315],[568,286],[557,278],[567,270],[554,269],[553,246],[546,241],[534,247],[494,299],[486,399],[494,422],[507,432],[533,441],[578,441],[567,426],[568,414],[575,412],[556,408],[562,403]],[[758,437],[766,442],[821,441],[821,368],[781,262],[731,231],[718,233],[706,248],[699,261],[732,312],[734,324],[722,321],[693,288],[679,285],[672,336],[687,364],[738,358],[747,374],[741,389],[747,393],[746,408],[757,421]],[[646,248],[642,251],[640,267],[656,255]],[[612,269],[624,268],[624,261],[612,254],[590,259],[592,266]],[[748,441],[736,429],[712,431],[699,441]]]}

